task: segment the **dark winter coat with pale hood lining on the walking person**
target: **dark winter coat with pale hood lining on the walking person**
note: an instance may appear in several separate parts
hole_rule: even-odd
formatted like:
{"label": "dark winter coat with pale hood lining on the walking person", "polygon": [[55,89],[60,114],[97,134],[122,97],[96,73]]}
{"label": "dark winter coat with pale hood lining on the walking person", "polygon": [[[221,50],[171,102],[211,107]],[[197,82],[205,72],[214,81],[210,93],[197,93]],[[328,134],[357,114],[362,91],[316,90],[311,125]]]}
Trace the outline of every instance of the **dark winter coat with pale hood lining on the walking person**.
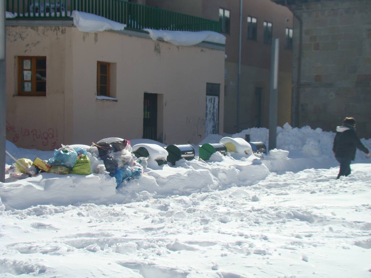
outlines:
{"label": "dark winter coat with pale hood lining on the walking person", "polygon": [[352,127],[347,125],[338,126],[336,128],[334,146],[332,147],[335,157],[354,160],[356,148],[368,153],[368,149],[359,140],[357,133]]}

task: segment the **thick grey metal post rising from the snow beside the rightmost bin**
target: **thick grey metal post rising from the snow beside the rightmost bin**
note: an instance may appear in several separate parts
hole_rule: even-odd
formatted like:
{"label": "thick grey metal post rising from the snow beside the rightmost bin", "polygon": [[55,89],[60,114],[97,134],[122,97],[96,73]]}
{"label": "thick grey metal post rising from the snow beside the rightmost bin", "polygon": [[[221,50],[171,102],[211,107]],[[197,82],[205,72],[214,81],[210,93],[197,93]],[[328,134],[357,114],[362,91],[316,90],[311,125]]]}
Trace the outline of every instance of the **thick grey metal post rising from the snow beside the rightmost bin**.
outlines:
{"label": "thick grey metal post rising from the snow beside the rightmost bin", "polygon": [[270,92],[269,92],[269,149],[277,146],[277,106],[278,106],[278,57],[279,39],[272,40],[270,55]]}

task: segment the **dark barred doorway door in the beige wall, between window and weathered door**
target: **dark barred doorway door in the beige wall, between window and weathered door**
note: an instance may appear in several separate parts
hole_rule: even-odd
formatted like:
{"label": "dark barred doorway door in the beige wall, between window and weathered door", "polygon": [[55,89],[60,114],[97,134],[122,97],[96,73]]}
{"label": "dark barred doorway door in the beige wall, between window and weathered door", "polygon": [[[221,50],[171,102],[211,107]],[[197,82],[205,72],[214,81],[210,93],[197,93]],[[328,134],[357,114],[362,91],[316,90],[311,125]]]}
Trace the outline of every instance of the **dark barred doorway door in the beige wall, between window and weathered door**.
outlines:
{"label": "dark barred doorway door in the beige wall, between window and weathered door", "polygon": [[143,139],[157,140],[157,94],[144,93]]}

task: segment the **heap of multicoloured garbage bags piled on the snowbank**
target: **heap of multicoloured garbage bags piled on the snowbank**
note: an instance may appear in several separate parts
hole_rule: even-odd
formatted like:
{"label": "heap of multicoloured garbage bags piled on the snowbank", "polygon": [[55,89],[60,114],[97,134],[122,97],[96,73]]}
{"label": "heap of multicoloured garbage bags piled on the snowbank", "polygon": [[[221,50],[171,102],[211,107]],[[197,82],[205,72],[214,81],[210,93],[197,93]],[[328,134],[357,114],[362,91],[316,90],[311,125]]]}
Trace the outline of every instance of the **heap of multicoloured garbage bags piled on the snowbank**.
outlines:
{"label": "heap of multicoloured garbage bags piled on the snowbank", "polygon": [[54,156],[49,160],[17,159],[6,171],[16,179],[37,175],[39,172],[59,175],[107,174],[116,179],[117,188],[123,181],[141,178],[143,167],[146,166],[147,158],[135,157],[129,140],[124,139],[115,142],[99,141],[86,149],[62,145],[54,150]]}

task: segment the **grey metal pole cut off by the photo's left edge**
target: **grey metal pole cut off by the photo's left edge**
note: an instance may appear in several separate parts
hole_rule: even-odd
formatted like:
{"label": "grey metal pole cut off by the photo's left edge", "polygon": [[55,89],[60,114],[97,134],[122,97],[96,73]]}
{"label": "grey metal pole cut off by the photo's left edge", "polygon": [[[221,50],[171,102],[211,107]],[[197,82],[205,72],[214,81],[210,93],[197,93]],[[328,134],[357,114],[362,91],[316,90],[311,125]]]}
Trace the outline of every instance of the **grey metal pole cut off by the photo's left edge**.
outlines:
{"label": "grey metal pole cut off by the photo's left edge", "polygon": [[5,0],[0,0],[0,182],[5,181],[6,139],[6,69],[5,69]]}

